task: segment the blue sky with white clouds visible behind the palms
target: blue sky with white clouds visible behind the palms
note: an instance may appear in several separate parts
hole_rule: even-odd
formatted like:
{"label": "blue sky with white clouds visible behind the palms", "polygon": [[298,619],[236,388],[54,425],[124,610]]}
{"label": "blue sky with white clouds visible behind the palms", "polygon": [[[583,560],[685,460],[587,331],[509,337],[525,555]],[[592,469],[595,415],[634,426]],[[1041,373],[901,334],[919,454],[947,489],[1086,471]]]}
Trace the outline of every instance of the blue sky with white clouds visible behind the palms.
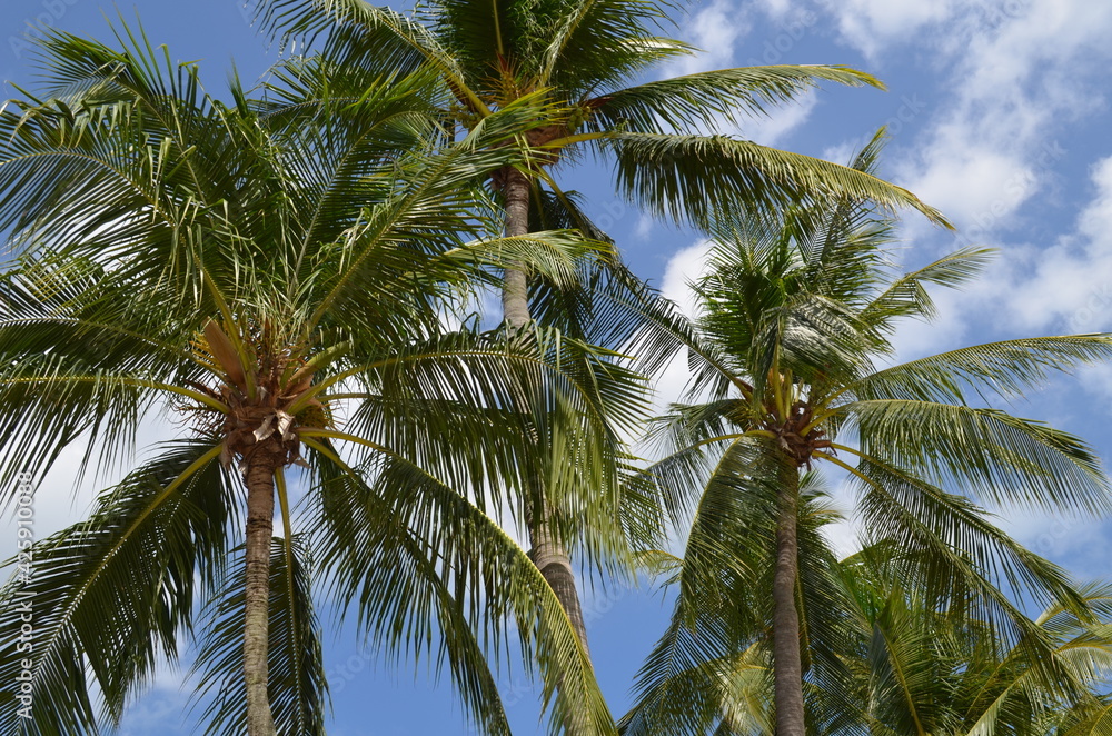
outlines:
{"label": "blue sky with white clouds visible behind the palms", "polygon": [[[220,95],[235,60],[255,79],[276,50],[250,26],[237,0],[136,0],[117,11],[102,0],[4,0],[0,78],[33,84],[28,23],[109,39],[106,16],[141,18],[148,37],[175,59],[199,60],[207,88]],[[1112,330],[1112,111],[1108,68],[1112,3],[1091,0],[712,0],[677,18],[675,36],[704,53],[662,68],[661,77],[762,63],[836,63],[867,71],[887,91],[826,87],[797,103],[719,132],[845,161],[881,126],[891,137],[882,173],[941,209],[956,235],[906,215],[897,253],[907,267],[966,245],[999,256],[961,292],[940,291],[933,324],[909,322],[901,358],[963,345],[1034,335]],[[4,98],[14,96],[8,87]],[[605,163],[557,171],[565,188],[587,195],[589,212],[616,238],[633,269],[681,304],[699,272],[706,245],[654,222],[610,188]],[[686,377],[674,367],[658,382],[663,405]],[[1006,407],[1050,421],[1112,457],[1104,430],[1112,410],[1112,366],[1051,381]],[[158,421],[140,430],[149,440]],[[73,458],[76,461],[76,457]],[[80,517],[89,486],[73,490],[72,465],[39,490],[39,536]],[[835,494],[848,511],[852,498]],[[1044,513],[999,509],[1000,523],[1035,551],[1089,579],[1108,574],[1112,525]],[[0,551],[13,548],[0,527]],[[853,524],[833,530],[854,546]],[[587,590],[588,635],[599,680],[615,714],[629,704],[632,677],[663,631],[666,605],[648,586]],[[326,647],[332,685],[329,733],[466,734],[446,683],[425,665],[387,666],[350,630]],[[122,734],[189,733],[182,674],[168,670],[131,708]],[[538,732],[537,697],[520,677],[502,682],[515,733]]]}

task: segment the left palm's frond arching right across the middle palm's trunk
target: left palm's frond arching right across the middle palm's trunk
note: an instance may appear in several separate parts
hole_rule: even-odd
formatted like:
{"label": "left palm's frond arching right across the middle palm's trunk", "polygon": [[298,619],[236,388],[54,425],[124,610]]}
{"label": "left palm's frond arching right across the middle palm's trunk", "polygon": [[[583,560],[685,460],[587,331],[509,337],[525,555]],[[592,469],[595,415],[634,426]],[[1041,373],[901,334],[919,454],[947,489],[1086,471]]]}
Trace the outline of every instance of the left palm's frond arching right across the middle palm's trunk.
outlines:
{"label": "left palm's frond arching right across the middle palm's trunk", "polygon": [[[504,494],[539,474],[554,501],[578,518],[585,510],[580,504],[602,503],[616,493],[607,457],[619,444],[615,432],[623,419],[636,416],[644,402],[644,386],[607,358],[606,351],[542,328],[414,342],[351,376],[361,390],[354,395],[360,404],[348,429],[456,487],[470,488],[484,508],[507,503]],[[532,397],[536,411],[519,416],[510,410],[522,396]],[[515,426],[519,438],[507,441],[506,428]],[[557,447],[556,457],[576,461],[532,458],[536,440],[530,432]],[[484,440],[489,451],[460,446],[460,436]],[[368,459],[376,450],[368,445],[353,452]],[[589,495],[580,495],[583,489]],[[596,531],[605,528],[603,519],[592,518]]]}

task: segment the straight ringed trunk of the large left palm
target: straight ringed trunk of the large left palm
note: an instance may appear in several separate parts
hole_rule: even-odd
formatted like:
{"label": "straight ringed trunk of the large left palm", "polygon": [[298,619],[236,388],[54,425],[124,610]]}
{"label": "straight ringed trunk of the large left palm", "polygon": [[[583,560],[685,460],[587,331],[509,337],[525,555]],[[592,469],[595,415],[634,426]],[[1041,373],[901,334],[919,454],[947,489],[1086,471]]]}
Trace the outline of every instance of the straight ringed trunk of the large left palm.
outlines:
{"label": "straight ringed trunk of the large left palm", "polygon": [[277,454],[256,448],[247,467],[247,580],[244,634],[244,678],[247,684],[248,736],[275,736],[267,694],[270,624],[270,539],[274,537]]}

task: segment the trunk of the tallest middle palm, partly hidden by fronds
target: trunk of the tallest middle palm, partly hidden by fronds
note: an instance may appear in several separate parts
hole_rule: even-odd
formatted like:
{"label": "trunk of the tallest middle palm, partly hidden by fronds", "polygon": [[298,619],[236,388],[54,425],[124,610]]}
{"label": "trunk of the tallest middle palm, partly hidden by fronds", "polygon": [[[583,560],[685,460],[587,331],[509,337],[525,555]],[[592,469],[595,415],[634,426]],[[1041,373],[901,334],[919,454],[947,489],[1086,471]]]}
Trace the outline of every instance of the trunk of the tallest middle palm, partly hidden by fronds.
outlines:
{"label": "trunk of the tallest middle palm, partly hidden by fronds", "polygon": [[[523,236],[529,231],[529,180],[516,169],[505,170],[503,195],[506,200],[506,235]],[[528,278],[523,268],[507,268],[502,289],[502,308],[506,325],[520,328],[533,320],[529,314]],[[534,489],[536,490],[536,489]],[[583,606],[575,585],[575,571],[567,550],[553,539],[544,493],[535,494],[534,501],[526,497],[526,525],[529,527],[530,557],[537,569],[556,594],[556,598],[572,621],[584,650],[587,650],[587,627],[583,620]],[[588,652],[589,654],[589,652]]]}

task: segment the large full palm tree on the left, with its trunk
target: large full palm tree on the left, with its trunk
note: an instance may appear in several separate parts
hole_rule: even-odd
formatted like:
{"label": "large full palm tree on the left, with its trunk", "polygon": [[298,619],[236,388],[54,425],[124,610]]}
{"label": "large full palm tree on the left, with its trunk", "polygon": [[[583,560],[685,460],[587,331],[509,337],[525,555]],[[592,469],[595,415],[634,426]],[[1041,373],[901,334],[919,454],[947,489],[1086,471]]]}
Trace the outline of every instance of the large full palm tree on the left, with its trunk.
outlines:
{"label": "large full palm tree on the left, with its trunk", "polygon": [[[597,468],[595,417],[613,408],[574,371],[605,356],[539,328],[443,327],[507,260],[567,284],[605,243],[480,237],[475,172],[515,159],[497,143],[519,123],[431,150],[428,74],[309,125],[238,83],[224,105],[193,64],[118,38],[51,31],[42,91],[0,113],[0,230],[18,253],[0,285],[0,467],[41,480],[81,444],[81,470],[95,452],[126,463],[159,409],[181,438],[40,540],[34,576],[0,593],[0,630],[18,636],[30,600],[36,633],[31,654],[0,660],[0,733],[22,733],[24,669],[37,733],[96,733],[96,699],[118,720],[178,657],[197,598],[212,620],[199,666],[222,690],[210,733],[322,733],[309,550],[375,640],[419,652],[440,635],[437,660],[487,730],[508,733],[484,646],[510,616],[546,698],[559,683],[554,729],[575,714],[607,733],[574,629],[499,524],[523,435],[503,407],[550,406],[577,428],[564,447]],[[620,405],[610,375],[593,378]],[[465,452],[460,432],[492,449]]]}

